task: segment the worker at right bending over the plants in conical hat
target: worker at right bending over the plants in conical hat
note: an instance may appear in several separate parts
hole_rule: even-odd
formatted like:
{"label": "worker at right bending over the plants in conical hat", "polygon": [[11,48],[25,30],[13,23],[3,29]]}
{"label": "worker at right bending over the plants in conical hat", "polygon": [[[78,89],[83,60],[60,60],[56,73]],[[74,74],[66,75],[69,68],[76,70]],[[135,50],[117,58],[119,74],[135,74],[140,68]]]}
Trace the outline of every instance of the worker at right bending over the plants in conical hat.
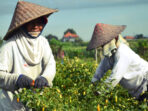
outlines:
{"label": "worker at right bending over the plants in conical hat", "polygon": [[111,84],[110,87],[120,83],[133,97],[143,99],[141,94],[148,91],[148,62],[137,55],[120,35],[125,27],[103,23],[95,26],[87,50],[101,47],[102,59],[91,82],[96,84],[111,69],[112,73],[105,81]]}

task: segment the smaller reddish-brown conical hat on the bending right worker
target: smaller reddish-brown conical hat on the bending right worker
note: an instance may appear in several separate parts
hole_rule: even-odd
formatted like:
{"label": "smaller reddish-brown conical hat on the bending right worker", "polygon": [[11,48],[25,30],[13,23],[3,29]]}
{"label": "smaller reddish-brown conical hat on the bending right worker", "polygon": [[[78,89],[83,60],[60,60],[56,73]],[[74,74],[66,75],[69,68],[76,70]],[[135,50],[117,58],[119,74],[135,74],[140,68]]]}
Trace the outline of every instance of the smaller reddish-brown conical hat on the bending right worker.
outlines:
{"label": "smaller reddish-brown conical hat on the bending right worker", "polygon": [[105,45],[117,37],[125,28],[125,25],[96,24],[92,38],[86,50],[92,50]]}

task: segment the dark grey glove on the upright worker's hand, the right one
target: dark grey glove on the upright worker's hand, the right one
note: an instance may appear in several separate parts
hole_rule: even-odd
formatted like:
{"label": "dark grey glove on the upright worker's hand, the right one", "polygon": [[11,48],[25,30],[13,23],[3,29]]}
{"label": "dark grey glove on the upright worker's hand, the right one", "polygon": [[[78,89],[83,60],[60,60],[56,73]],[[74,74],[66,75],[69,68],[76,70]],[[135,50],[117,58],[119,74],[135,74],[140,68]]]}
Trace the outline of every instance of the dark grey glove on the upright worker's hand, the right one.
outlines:
{"label": "dark grey glove on the upright worker's hand, the right one", "polygon": [[35,80],[35,88],[43,88],[44,86],[49,86],[47,79],[42,76],[38,77]]}

